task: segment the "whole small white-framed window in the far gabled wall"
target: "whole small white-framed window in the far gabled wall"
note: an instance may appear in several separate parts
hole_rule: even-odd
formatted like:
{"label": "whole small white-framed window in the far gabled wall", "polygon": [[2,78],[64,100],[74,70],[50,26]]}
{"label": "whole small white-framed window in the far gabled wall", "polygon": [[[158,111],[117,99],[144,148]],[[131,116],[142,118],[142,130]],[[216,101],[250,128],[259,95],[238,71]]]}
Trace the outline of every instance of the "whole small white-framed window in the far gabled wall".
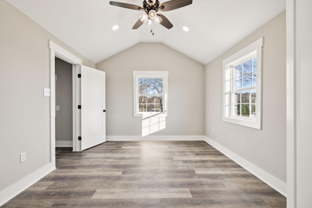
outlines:
{"label": "whole small white-framed window in the far gabled wall", "polygon": [[133,71],[133,116],[167,116],[167,71]]}

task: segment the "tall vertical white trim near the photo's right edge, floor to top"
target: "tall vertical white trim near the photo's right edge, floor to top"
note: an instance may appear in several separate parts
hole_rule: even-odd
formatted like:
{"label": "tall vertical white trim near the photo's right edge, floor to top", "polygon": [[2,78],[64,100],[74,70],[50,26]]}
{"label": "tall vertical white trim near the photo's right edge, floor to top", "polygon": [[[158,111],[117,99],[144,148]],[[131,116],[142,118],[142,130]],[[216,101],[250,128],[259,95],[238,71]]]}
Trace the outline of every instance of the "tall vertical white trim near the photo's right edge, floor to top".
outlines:
{"label": "tall vertical white trim near the photo's right edge, floor to top", "polygon": [[296,181],[296,0],[286,0],[287,207],[297,207]]}

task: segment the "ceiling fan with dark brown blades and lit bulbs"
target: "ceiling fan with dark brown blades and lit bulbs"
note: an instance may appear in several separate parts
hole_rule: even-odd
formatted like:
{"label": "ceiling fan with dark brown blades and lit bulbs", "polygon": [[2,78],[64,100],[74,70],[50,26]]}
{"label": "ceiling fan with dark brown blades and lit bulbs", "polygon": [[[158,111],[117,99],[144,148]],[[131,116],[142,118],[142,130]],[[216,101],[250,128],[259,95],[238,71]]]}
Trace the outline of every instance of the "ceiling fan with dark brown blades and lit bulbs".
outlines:
{"label": "ceiling fan with dark brown blades and lit bulbs", "polygon": [[144,13],[140,16],[132,29],[139,28],[143,23],[146,23],[148,27],[153,27],[153,22],[156,24],[161,24],[165,28],[170,29],[173,27],[173,24],[164,15],[157,14],[157,12],[167,12],[178,9],[192,4],[192,1],[193,0],[169,0],[162,4],[159,4],[158,0],[143,0],[143,6],[137,6],[134,4],[121,3],[116,1],[110,1],[109,3],[113,6],[144,11]]}

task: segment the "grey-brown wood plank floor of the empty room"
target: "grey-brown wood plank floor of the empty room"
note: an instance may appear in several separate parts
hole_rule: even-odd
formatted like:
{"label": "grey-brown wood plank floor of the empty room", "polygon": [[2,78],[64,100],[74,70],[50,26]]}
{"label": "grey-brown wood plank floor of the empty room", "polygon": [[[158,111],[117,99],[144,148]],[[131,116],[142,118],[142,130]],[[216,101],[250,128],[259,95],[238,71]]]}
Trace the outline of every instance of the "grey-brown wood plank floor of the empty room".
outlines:
{"label": "grey-brown wood plank floor of the empty room", "polygon": [[286,198],[204,141],[57,148],[57,169],[3,207],[270,208]]}

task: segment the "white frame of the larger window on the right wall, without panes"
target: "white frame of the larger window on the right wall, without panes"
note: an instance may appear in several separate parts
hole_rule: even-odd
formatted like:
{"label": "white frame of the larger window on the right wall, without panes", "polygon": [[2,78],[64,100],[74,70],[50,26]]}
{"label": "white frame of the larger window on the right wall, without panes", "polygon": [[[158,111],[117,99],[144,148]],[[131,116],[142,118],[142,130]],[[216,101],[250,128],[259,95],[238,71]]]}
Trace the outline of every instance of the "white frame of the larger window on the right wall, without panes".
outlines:
{"label": "white frame of the larger window on the right wall, without panes", "polygon": [[[232,56],[223,60],[223,103],[222,103],[222,120],[238,125],[243,125],[255,129],[262,128],[262,94],[261,94],[261,74],[262,74],[262,47],[263,47],[263,38],[259,38],[254,41],[250,45],[236,52]],[[232,99],[234,97],[234,81],[233,81],[233,70],[232,67],[237,65],[237,63],[242,63],[251,59],[252,57],[256,57],[257,59],[257,83],[256,83],[256,101],[255,101],[255,118],[252,117],[243,117],[243,116],[235,116],[233,113]],[[228,73],[231,73],[231,84],[226,85],[226,76],[229,76]],[[244,89],[243,89],[244,90]],[[246,88],[248,90],[248,88]]]}

